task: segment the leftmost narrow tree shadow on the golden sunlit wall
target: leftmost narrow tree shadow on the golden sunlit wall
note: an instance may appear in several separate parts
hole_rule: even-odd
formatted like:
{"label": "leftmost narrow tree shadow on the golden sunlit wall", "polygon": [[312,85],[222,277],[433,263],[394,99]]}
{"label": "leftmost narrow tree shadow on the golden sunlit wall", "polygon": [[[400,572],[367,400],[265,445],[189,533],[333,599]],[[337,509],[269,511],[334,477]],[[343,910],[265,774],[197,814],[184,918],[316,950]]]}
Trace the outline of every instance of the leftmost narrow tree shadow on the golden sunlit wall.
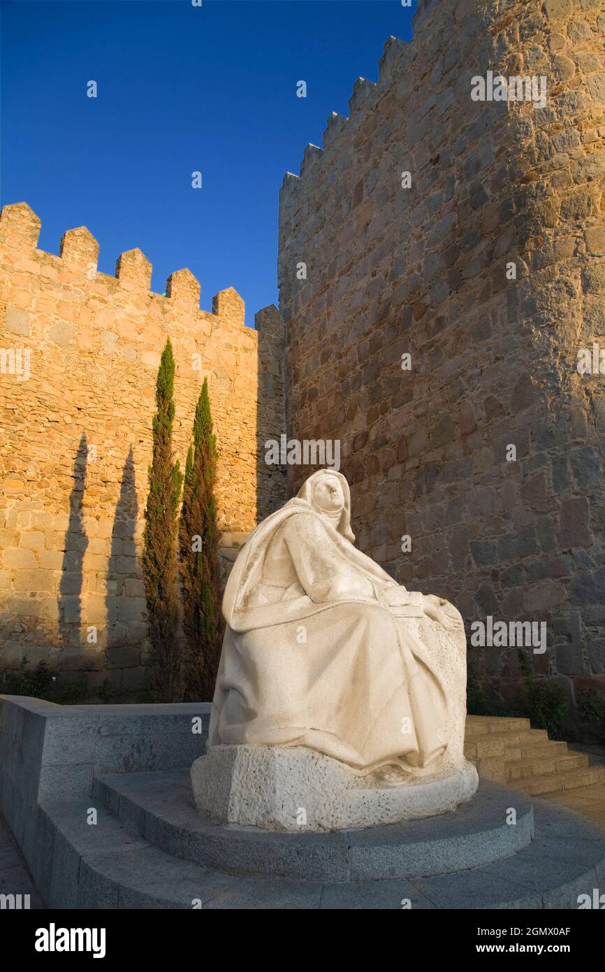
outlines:
{"label": "leftmost narrow tree shadow on the golden sunlit wall", "polygon": [[74,485],[69,495],[69,520],[59,582],[59,635],[63,647],[81,644],[83,564],[88,546],[82,522],[87,461],[88,447],[83,433],[74,459]]}

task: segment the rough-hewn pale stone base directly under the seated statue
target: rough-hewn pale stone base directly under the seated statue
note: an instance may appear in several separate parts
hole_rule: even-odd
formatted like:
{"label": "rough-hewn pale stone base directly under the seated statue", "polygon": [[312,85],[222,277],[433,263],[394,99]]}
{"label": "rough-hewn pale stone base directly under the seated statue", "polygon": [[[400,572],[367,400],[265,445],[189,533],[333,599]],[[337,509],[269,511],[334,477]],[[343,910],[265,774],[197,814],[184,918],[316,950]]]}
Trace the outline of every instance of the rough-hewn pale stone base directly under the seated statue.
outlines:
{"label": "rough-hewn pale stone base directly under the seated statue", "polygon": [[415,820],[470,800],[477,771],[446,756],[397,786],[372,784],[304,746],[211,746],[191,767],[195,804],[222,823],[266,830],[345,830]]}

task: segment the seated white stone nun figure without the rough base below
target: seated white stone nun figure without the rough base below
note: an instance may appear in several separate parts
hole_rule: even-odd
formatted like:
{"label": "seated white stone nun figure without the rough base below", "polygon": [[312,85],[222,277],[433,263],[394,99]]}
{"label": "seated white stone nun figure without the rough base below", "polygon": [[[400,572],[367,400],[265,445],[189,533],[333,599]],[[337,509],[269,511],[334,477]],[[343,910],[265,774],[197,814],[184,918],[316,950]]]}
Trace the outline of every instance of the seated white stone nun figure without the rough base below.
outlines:
{"label": "seated white stone nun figure without the rough base below", "polygon": [[[453,809],[472,795],[469,781],[476,788],[462,754],[462,619],[447,601],[397,584],[353,541],[349,484],[320,469],[242,546],[222,602],[208,753],[244,746],[250,758],[251,746],[265,754],[302,747],[337,761],[352,786],[366,788],[366,803],[368,787],[405,789],[447,777],[455,764],[466,773],[464,793],[452,800],[450,791],[447,806],[431,812]],[[193,767],[204,760],[206,781],[194,780],[194,795],[217,816],[208,757]],[[238,813],[227,818],[271,825]]]}

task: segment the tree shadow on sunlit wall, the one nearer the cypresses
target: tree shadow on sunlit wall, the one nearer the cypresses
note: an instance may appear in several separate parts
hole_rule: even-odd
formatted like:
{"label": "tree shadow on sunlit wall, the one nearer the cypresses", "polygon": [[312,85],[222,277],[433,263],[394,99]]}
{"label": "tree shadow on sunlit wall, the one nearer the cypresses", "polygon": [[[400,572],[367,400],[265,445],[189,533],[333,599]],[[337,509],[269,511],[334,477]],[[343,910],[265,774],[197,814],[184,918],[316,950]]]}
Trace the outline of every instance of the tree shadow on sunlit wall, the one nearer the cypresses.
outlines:
{"label": "tree shadow on sunlit wall, the one nearer the cypresses", "polygon": [[140,642],[142,633],[135,630],[138,619],[129,616],[126,581],[139,578],[135,550],[135,529],[139,504],[132,446],[128,450],[119,484],[118,503],[114,513],[112,546],[107,569],[105,605],[107,608],[107,651],[110,665],[121,667],[126,644]]}

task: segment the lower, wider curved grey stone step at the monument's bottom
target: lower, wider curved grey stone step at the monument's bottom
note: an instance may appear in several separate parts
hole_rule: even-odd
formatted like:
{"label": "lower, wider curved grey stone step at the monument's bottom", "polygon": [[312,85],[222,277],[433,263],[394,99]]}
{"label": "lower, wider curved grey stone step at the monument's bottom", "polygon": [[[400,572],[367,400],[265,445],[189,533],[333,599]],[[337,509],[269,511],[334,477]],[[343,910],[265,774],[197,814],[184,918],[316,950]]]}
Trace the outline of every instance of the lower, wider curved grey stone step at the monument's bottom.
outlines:
{"label": "lower, wider curved grey stone step at the monument's bottom", "polygon": [[[510,803],[518,797],[508,791]],[[81,798],[43,808],[50,908],[400,910],[409,902],[413,909],[575,910],[578,895],[592,896],[605,882],[602,835],[540,801],[535,839],[506,860],[456,874],[374,882],[221,874],[133,837],[102,807],[96,825],[88,825],[89,807],[90,798]]]}

